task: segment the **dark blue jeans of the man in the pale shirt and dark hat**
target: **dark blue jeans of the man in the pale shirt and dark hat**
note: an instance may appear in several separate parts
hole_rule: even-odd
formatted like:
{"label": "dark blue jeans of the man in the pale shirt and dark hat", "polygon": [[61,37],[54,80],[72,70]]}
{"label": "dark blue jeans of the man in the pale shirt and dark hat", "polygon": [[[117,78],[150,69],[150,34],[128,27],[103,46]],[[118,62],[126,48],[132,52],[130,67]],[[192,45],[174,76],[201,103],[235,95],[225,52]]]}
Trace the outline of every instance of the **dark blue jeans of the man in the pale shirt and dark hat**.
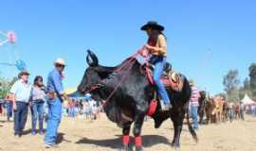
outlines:
{"label": "dark blue jeans of the man in the pale shirt and dark hat", "polygon": [[16,102],[17,109],[14,110],[14,134],[22,134],[27,123],[27,103]]}

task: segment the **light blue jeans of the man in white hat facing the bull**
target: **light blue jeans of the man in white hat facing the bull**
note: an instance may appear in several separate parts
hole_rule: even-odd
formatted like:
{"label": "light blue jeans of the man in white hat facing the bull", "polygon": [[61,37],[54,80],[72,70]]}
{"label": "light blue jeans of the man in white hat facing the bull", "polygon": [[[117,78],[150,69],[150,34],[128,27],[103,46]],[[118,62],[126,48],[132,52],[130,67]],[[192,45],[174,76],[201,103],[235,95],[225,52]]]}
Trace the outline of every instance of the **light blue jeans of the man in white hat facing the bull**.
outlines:
{"label": "light blue jeans of the man in white hat facing the bull", "polygon": [[46,144],[55,144],[57,140],[58,127],[62,120],[62,102],[56,97],[53,100],[47,99],[48,115],[46,126]]}

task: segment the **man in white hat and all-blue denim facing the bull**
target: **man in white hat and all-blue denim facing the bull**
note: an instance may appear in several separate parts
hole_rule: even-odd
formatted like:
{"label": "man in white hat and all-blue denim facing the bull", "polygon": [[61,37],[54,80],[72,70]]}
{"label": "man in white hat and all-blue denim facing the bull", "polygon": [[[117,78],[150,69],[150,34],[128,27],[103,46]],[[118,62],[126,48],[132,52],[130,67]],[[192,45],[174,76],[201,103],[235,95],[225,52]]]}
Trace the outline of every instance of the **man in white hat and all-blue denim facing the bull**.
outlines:
{"label": "man in white hat and all-blue denim facing the bull", "polygon": [[56,59],[55,69],[47,77],[47,105],[48,120],[46,126],[46,147],[56,146],[58,127],[62,119],[62,102],[64,101],[63,72],[65,67],[64,59]]}

